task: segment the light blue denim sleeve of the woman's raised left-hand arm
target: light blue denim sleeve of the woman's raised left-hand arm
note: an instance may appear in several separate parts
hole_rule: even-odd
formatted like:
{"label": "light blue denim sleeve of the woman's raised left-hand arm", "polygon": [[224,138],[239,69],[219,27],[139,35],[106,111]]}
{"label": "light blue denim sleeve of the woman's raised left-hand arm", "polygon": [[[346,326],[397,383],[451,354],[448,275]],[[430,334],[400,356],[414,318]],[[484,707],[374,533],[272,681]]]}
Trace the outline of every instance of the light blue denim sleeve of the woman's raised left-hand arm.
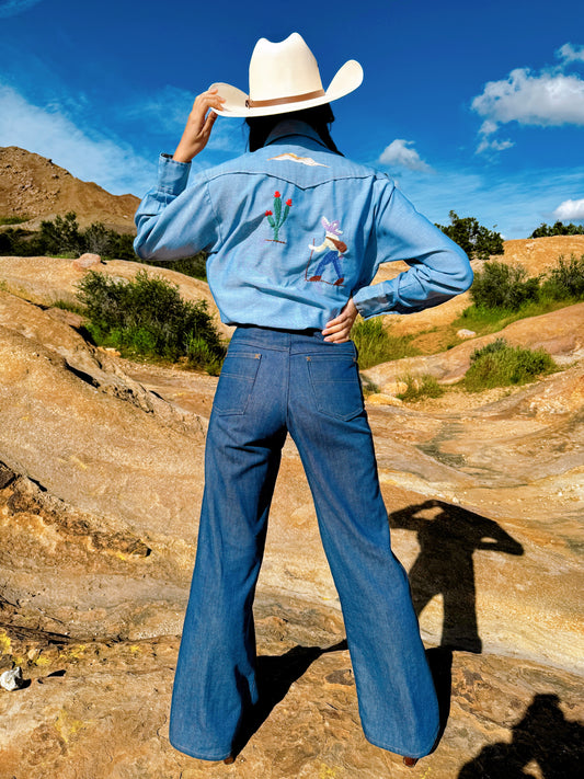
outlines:
{"label": "light blue denim sleeve of the woman's raised left-hand arm", "polygon": [[186,187],[190,162],[161,154],[157,185],[138,206],[138,234],[134,250],[141,260],[179,260],[205,250],[219,240],[219,225],[204,174]]}

